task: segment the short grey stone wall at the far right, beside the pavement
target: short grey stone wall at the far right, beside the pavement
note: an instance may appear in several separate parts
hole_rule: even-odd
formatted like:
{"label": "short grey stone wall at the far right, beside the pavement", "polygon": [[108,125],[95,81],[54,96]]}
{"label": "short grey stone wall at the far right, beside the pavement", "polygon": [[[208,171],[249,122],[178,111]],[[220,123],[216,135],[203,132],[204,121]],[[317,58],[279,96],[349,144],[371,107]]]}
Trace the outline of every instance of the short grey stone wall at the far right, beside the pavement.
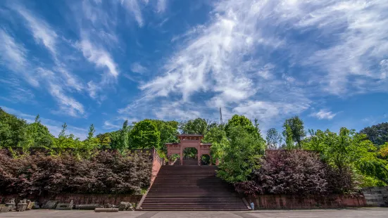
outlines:
{"label": "short grey stone wall at the far right, beside the pavement", "polygon": [[368,187],[362,189],[366,204],[370,207],[388,207],[388,187]]}

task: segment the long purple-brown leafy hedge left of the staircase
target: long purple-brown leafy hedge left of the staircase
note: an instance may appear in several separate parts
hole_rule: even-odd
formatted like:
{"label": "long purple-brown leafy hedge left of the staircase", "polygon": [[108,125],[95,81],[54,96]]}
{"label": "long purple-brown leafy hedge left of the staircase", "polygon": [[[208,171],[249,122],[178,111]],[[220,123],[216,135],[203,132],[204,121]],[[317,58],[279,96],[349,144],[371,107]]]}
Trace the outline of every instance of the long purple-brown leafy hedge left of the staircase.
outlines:
{"label": "long purple-brown leafy hedge left of the staircase", "polygon": [[89,160],[0,151],[0,194],[140,193],[149,186],[151,162],[142,156],[99,152]]}

